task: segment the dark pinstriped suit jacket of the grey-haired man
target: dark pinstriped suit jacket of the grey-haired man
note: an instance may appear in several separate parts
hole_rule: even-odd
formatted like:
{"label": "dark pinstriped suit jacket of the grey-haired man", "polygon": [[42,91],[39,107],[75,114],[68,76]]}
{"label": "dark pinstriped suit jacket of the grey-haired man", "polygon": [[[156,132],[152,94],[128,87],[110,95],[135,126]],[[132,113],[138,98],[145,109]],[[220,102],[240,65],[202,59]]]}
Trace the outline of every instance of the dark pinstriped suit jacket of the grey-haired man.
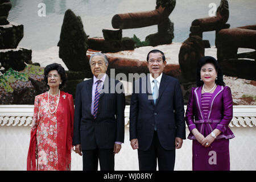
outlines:
{"label": "dark pinstriped suit jacket of the grey-haired man", "polygon": [[125,94],[116,92],[114,86],[117,84],[123,89],[121,82],[106,77],[103,89],[107,86],[109,93],[100,94],[96,119],[90,113],[93,78],[77,85],[73,145],[81,144],[82,150],[93,150],[113,148],[115,142],[124,142]]}

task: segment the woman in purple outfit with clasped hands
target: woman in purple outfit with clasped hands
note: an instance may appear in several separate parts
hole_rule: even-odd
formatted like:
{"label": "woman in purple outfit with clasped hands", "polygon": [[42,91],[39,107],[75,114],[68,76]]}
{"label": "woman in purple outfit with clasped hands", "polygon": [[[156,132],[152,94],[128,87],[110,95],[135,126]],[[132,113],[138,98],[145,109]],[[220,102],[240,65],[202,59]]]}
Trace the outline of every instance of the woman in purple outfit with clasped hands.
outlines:
{"label": "woman in purple outfit with clasped hands", "polygon": [[216,59],[203,57],[197,66],[196,88],[191,89],[185,119],[192,139],[192,168],[230,170],[229,128],[233,117],[231,90],[225,86]]}

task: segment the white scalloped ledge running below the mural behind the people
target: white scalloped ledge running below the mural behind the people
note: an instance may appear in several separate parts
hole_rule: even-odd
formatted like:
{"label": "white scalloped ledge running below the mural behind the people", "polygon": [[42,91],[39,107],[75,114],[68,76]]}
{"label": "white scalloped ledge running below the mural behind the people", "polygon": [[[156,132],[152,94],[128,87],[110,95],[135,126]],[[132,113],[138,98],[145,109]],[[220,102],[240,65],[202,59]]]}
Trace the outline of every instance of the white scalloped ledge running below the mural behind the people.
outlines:
{"label": "white scalloped ledge running below the mural behind the people", "polygon": [[[187,106],[184,106],[186,109]],[[0,105],[0,126],[31,126],[34,105]],[[130,106],[125,107],[125,125],[129,127]],[[233,106],[230,127],[255,127],[256,106]]]}

